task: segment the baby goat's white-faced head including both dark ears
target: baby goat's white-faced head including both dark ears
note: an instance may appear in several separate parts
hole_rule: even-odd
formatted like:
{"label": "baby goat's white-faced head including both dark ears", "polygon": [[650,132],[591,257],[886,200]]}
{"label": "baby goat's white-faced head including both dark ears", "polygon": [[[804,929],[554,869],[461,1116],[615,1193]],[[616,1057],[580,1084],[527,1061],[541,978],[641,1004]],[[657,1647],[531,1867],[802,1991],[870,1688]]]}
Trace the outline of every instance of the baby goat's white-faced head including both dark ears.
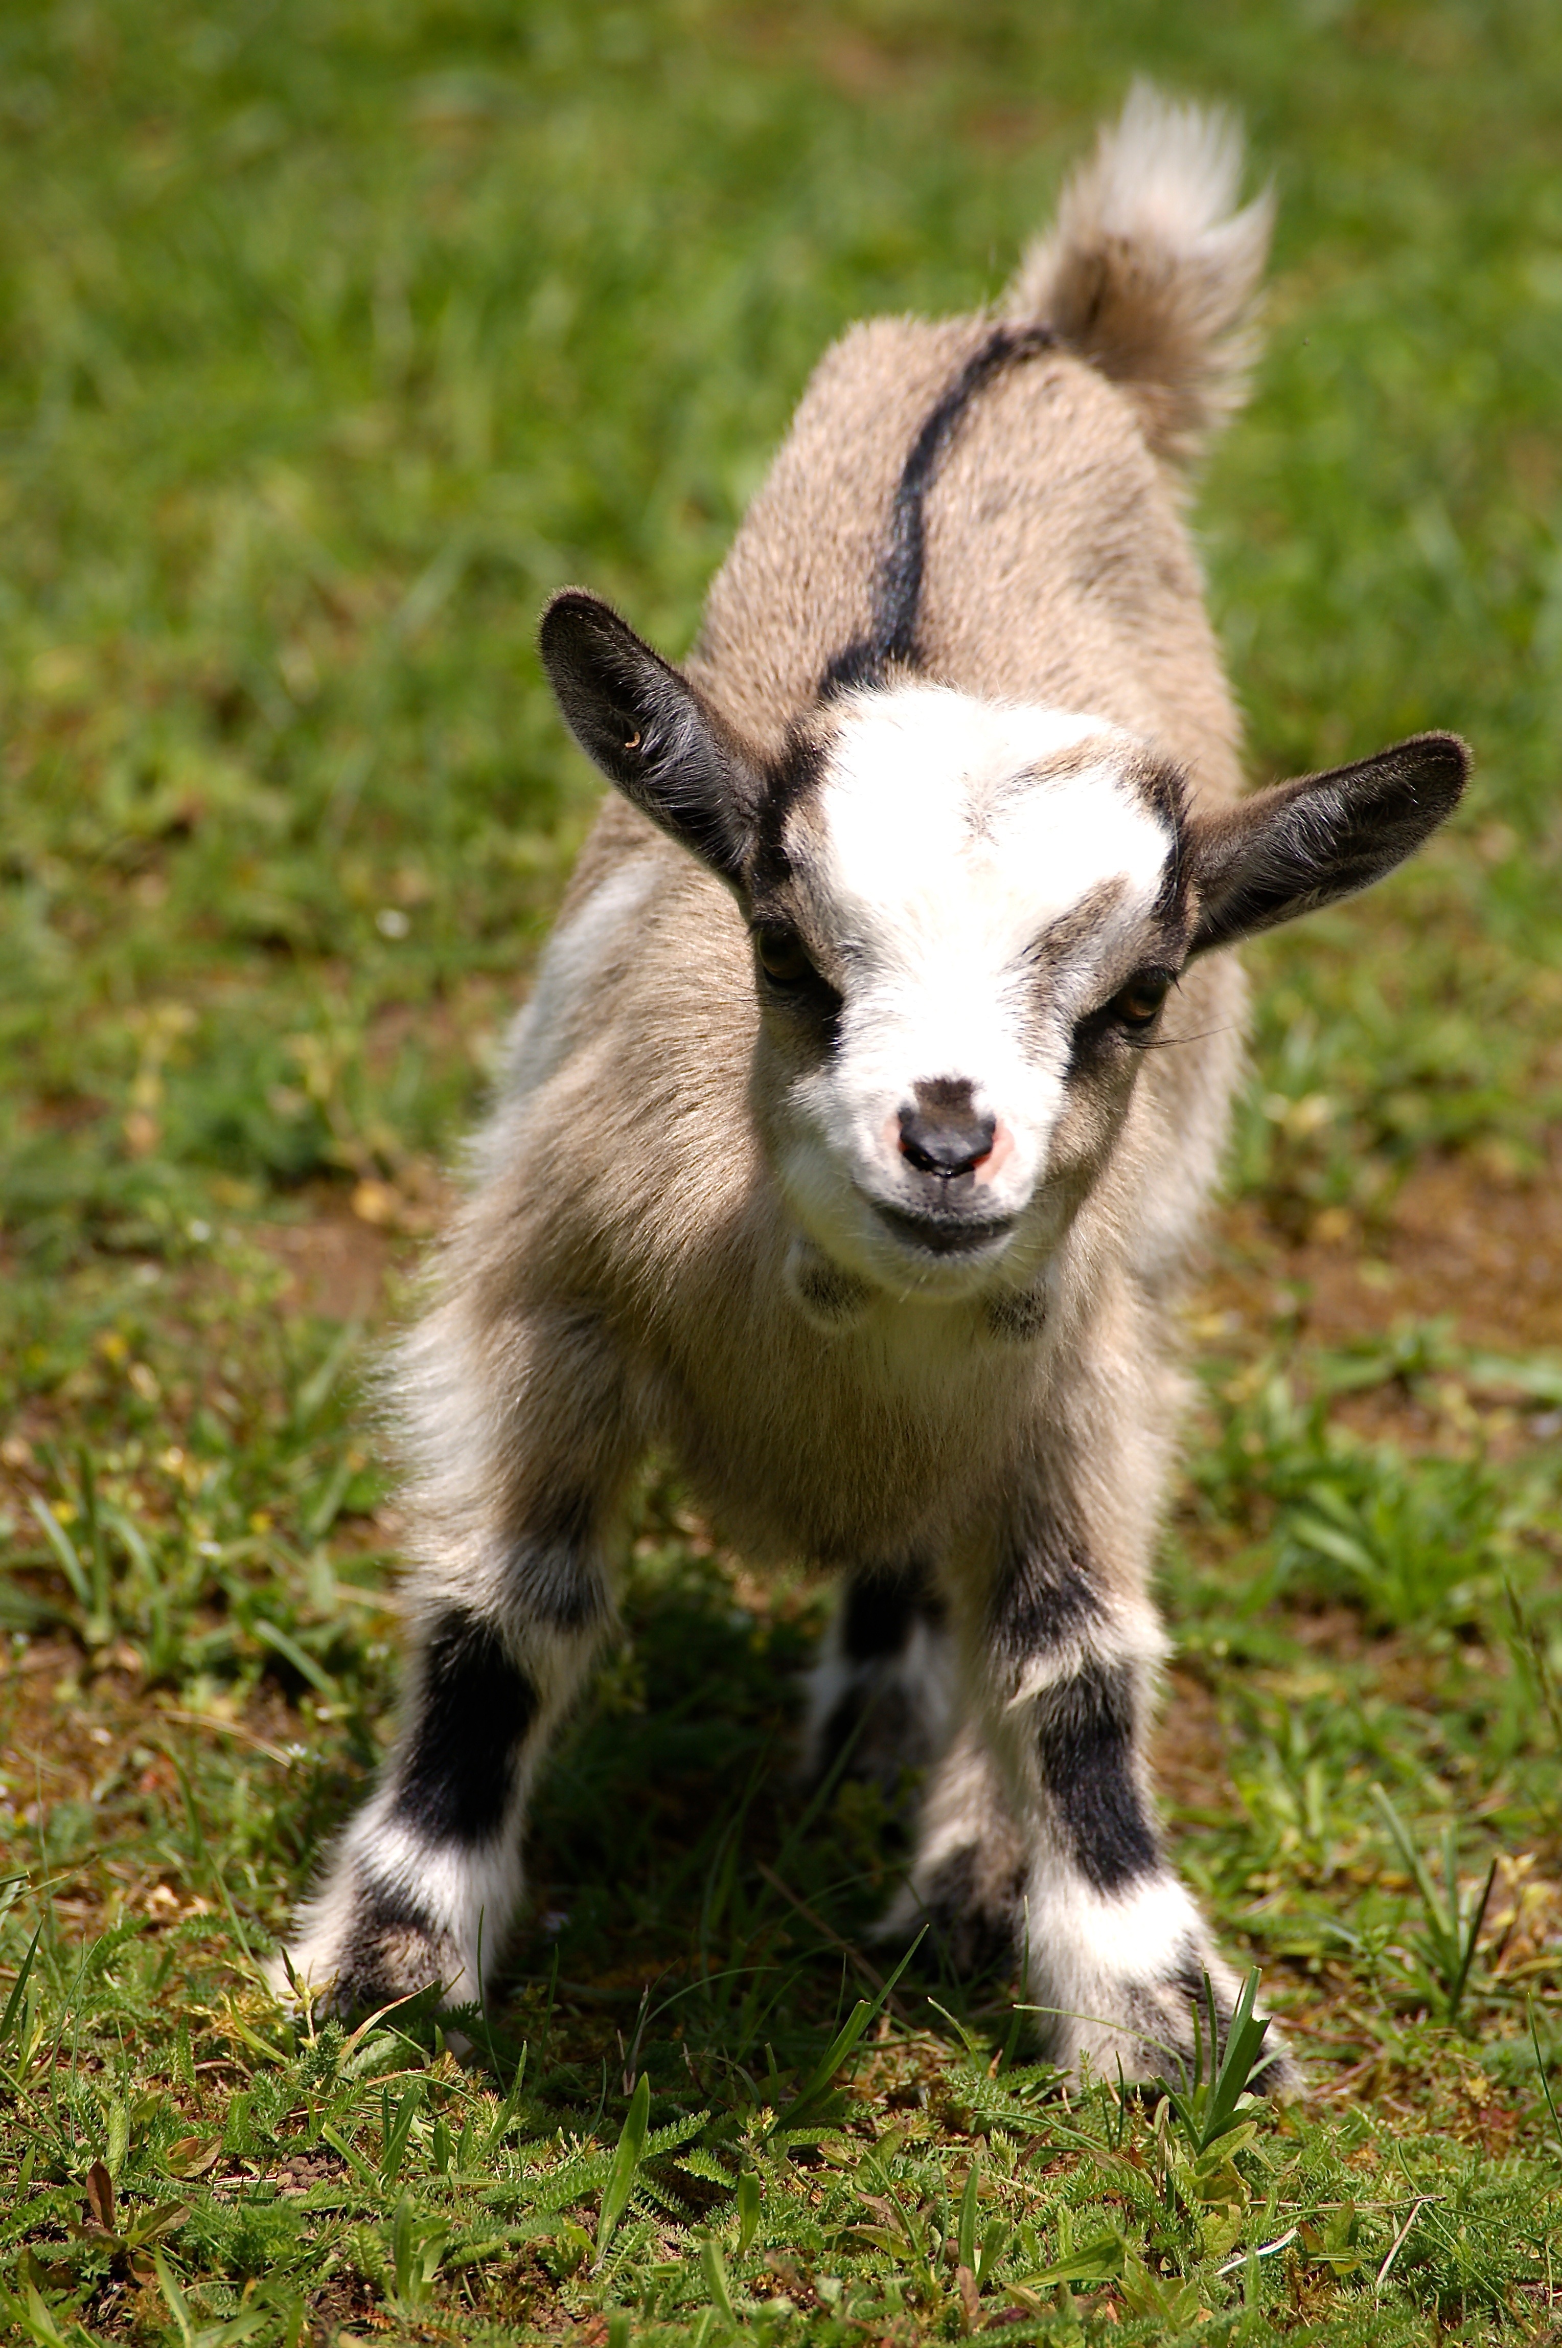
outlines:
{"label": "baby goat's white-faced head including both dark ears", "polygon": [[542,657],[589,756],[748,920],[755,1111],[797,1223],[922,1296],[1037,1268],[1187,963],[1367,888],[1466,775],[1461,742],[1419,735],[1191,815],[1105,718],[910,676],[765,761],[593,596],[554,599]]}

